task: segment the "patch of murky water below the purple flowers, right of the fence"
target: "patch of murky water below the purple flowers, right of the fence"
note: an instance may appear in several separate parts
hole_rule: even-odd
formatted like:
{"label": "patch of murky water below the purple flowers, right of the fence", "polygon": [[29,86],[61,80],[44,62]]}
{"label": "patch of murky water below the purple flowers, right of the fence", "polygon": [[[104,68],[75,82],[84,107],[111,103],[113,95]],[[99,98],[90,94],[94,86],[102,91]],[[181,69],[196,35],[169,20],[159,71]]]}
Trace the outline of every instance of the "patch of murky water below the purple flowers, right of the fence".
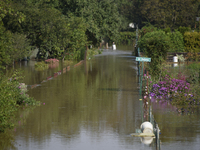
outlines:
{"label": "patch of murky water below the purple flowers, right of the fence", "polygon": [[154,103],[153,113],[161,130],[162,149],[199,149],[199,108],[196,108],[192,115],[181,115],[176,111],[176,107],[166,103]]}

